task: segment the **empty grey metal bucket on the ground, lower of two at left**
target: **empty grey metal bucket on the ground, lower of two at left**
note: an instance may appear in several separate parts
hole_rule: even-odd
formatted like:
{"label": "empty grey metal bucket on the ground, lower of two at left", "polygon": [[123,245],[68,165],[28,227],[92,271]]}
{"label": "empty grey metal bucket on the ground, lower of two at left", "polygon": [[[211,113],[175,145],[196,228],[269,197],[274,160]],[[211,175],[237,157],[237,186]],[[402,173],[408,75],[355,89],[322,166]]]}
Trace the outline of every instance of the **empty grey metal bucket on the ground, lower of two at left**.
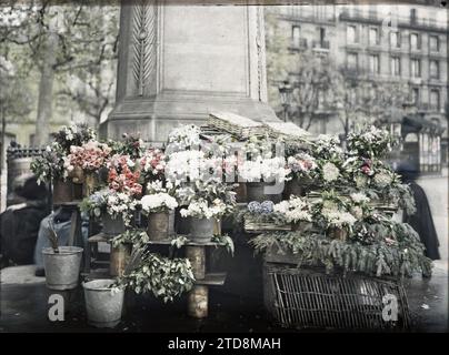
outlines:
{"label": "empty grey metal bucket on the ground, lower of two at left", "polygon": [[96,327],[112,328],[121,321],[124,290],[110,288],[113,282],[93,280],[82,284],[88,323]]}

